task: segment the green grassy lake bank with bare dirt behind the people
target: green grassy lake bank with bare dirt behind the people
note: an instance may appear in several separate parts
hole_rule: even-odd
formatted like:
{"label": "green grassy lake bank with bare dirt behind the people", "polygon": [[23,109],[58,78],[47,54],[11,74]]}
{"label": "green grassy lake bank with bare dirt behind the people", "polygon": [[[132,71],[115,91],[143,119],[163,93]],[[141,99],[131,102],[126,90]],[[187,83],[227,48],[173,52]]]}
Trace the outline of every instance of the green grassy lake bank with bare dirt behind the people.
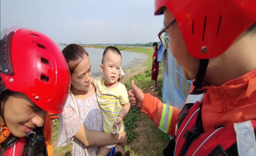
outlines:
{"label": "green grassy lake bank with bare dirt behind the people", "polygon": [[[106,48],[106,46],[84,46],[91,48]],[[158,90],[151,92],[150,86],[153,86],[151,80],[151,59],[154,50],[151,48],[138,47],[121,47],[116,46],[122,51],[141,52],[149,55],[148,60],[138,69],[131,70],[122,83],[127,90],[131,89],[131,80],[142,89],[144,93],[151,93],[152,96],[158,97],[162,101],[162,86],[163,86],[163,70],[160,62],[158,73]],[[140,108],[131,107],[128,115],[124,118],[125,131],[127,132],[127,145],[125,149],[129,149],[131,156],[162,156],[163,149],[170,141],[168,135],[162,132],[150,119],[141,113]],[[52,140],[55,156],[71,156],[72,145],[59,146],[56,148],[59,124],[55,123],[52,129]]]}

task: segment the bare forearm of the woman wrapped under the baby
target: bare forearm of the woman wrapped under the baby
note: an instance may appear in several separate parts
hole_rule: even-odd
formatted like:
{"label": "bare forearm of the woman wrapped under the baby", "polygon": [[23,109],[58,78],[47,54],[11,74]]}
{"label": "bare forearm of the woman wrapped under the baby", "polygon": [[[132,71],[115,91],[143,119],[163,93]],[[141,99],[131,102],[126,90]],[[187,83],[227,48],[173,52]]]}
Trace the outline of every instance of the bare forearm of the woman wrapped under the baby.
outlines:
{"label": "bare forearm of the woman wrapped under the baby", "polygon": [[85,144],[85,146],[89,147],[121,144],[122,148],[124,148],[127,143],[126,132],[115,135],[105,132],[89,131],[84,124],[82,124],[74,136]]}

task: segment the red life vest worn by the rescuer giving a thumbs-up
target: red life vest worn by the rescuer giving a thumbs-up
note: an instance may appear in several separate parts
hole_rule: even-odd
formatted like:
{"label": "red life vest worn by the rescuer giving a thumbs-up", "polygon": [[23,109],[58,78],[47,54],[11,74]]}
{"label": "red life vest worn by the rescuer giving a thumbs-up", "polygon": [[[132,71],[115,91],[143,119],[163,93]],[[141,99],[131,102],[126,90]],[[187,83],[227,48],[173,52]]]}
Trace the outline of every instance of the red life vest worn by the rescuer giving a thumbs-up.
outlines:
{"label": "red life vest worn by the rescuer giving a thumbs-up", "polygon": [[194,89],[177,119],[175,138],[165,156],[256,156],[256,120],[203,131],[201,101],[206,90]]}

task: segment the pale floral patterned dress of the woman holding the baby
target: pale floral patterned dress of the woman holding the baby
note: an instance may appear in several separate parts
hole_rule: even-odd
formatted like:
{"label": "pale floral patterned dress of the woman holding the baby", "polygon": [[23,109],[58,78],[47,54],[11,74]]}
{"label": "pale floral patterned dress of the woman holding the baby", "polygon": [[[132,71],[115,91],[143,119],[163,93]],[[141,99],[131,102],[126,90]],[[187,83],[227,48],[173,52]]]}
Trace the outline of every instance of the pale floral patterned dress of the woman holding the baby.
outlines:
{"label": "pale floral patterned dress of the woman holding the baby", "polygon": [[[57,147],[72,143],[72,156],[86,156],[83,143],[76,139],[74,135],[82,124],[85,124],[89,131],[103,131],[101,107],[97,101],[96,93],[85,100],[76,99],[76,103],[80,117],[70,95],[63,112],[59,114],[60,127]],[[98,147],[87,147],[87,150],[89,156],[96,156]]]}

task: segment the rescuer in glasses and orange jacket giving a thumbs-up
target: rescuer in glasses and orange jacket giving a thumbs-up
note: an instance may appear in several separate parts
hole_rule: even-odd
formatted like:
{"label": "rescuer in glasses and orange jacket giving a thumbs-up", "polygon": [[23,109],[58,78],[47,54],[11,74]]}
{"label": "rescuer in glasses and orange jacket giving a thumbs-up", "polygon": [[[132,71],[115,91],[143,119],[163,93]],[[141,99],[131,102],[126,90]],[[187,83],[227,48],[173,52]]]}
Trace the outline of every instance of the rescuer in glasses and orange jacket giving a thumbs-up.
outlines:
{"label": "rescuer in glasses and orange jacket giving a thumbs-up", "polygon": [[164,155],[255,156],[256,1],[155,0],[154,14],[164,14],[162,44],[195,79],[180,110],[131,82],[130,103],[174,138]]}

